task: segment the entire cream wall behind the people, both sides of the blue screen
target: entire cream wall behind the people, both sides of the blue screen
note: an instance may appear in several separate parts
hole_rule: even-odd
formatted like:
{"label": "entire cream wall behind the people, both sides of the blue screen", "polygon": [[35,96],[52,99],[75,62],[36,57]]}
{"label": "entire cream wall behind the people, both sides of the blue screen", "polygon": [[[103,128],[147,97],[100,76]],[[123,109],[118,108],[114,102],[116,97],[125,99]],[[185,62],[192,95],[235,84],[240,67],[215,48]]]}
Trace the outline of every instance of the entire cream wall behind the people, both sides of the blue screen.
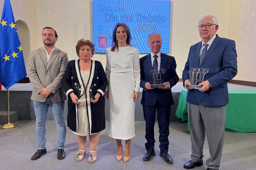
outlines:
{"label": "entire cream wall behind the people, both sides of the blue screen", "polygon": [[[66,51],[69,60],[77,58],[75,45],[81,38],[90,39],[91,0],[11,0],[15,20],[25,21],[30,29],[31,49],[43,46],[43,27],[58,33],[57,48]],[[172,0],[171,54],[181,78],[189,47],[200,41],[197,21],[203,15],[218,18],[220,37],[234,39],[238,53],[238,75],[234,80],[256,82],[255,0]],[[3,1],[0,1],[0,14]],[[143,55],[141,55],[143,56]],[[95,54],[105,67],[104,54]],[[251,71],[251,72],[249,72]]]}

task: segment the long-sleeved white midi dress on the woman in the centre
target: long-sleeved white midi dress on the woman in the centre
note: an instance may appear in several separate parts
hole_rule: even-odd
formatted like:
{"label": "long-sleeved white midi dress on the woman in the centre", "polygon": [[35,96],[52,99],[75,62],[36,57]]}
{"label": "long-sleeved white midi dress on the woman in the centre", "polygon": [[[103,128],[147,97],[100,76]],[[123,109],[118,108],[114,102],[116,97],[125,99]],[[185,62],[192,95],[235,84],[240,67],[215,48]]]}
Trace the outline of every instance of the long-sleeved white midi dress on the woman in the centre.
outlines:
{"label": "long-sleeved white midi dress on the woman in the centre", "polygon": [[140,88],[140,58],[137,48],[111,47],[106,52],[106,76],[109,94],[109,136],[115,139],[131,139],[134,128],[134,91]]}

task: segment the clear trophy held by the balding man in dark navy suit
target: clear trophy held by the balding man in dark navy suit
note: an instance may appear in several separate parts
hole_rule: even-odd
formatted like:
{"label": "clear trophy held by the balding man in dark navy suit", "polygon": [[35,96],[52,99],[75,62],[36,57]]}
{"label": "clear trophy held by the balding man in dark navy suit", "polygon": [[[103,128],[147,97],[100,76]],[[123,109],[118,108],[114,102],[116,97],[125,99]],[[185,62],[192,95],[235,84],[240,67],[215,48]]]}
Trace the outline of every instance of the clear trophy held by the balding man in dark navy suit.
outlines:
{"label": "clear trophy held by the balding man in dark navy suit", "polygon": [[166,69],[151,69],[147,74],[150,75],[151,88],[165,87],[163,85],[163,75],[166,73]]}

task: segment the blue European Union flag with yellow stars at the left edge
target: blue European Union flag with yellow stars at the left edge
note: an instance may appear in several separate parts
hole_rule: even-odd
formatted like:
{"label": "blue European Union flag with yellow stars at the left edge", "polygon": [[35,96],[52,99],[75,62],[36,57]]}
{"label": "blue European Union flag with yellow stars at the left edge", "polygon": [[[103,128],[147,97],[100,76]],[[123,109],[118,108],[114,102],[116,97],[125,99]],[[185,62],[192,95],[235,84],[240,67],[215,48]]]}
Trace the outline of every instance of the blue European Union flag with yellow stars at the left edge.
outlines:
{"label": "blue European Union flag with yellow stars at the left edge", "polygon": [[4,88],[8,89],[27,76],[10,0],[4,1],[0,20],[0,62],[0,78]]}

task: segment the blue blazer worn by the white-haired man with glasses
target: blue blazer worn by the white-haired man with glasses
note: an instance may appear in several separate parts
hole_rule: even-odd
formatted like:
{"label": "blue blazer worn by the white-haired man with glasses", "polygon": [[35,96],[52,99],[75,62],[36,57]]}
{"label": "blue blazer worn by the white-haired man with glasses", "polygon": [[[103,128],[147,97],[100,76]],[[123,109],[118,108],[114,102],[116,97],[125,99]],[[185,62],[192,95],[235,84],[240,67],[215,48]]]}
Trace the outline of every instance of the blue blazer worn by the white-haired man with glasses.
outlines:
{"label": "blue blazer worn by the white-haired man with glasses", "polygon": [[[183,84],[188,79],[187,71],[199,67],[199,53],[202,41],[189,49],[187,62],[182,73]],[[188,90],[187,102],[203,106],[220,106],[228,104],[227,82],[237,74],[237,52],[234,40],[221,38],[216,34],[212,45],[205,54],[201,68],[209,68],[204,80],[210,83],[208,91]]]}

